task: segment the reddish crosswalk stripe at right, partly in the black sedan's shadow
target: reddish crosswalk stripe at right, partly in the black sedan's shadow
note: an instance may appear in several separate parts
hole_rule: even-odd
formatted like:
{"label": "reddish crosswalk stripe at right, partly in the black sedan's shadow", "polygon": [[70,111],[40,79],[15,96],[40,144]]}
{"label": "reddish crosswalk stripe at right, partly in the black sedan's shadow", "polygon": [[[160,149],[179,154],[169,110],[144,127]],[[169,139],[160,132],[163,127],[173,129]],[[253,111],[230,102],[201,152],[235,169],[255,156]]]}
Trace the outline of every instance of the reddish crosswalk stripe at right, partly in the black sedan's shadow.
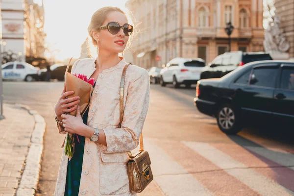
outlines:
{"label": "reddish crosswalk stripe at right, partly in the black sedan's shadow", "polygon": [[293,169],[282,166],[239,145],[218,143],[211,144],[211,146],[221,150],[226,154],[229,154],[236,161],[239,161],[247,167],[252,168],[262,175],[274,180],[285,188],[294,191],[292,182],[294,176]]}

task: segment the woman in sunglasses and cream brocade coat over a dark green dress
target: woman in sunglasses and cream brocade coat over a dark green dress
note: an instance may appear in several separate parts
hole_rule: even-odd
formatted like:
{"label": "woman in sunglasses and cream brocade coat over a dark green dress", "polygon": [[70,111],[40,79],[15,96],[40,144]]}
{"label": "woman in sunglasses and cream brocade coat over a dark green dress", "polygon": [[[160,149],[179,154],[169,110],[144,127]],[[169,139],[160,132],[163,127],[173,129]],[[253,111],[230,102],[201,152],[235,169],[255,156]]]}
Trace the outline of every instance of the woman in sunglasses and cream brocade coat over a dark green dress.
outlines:
{"label": "woman in sunglasses and cream brocade coat over a dark green dress", "polygon": [[[92,16],[88,32],[97,47],[98,57],[77,60],[72,73],[95,78],[96,85],[88,111],[82,117],[72,107],[79,98],[66,98],[63,91],[55,105],[60,133],[78,134],[73,158],[61,158],[55,196],[132,196],[126,172],[126,151],[139,144],[149,106],[149,75],[145,69],[129,65],[124,84],[124,115],[120,123],[120,82],[127,64],[123,52],[133,28],[124,12],[103,7]],[[71,109],[67,109],[72,107]],[[77,110],[77,116],[66,112]],[[59,125],[59,124],[62,124]],[[75,138],[76,139],[76,138]],[[77,140],[77,139],[76,139]],[[64,151],[64,150],[63,150]]]}

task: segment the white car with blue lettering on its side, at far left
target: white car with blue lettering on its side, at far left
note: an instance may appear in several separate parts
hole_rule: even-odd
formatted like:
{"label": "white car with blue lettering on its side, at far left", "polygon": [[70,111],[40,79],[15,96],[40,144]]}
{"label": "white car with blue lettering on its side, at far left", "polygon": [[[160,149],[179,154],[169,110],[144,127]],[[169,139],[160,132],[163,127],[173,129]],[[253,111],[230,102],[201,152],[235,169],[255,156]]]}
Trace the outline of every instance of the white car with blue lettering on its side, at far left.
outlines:
{"label": "white car with blue lettering on its side, at far left", "polygon": [[28,82],[38,79],[40,68],[36,68],[26,62],[8,62],[1,66],[2,78],[13,80],[25,80]]}

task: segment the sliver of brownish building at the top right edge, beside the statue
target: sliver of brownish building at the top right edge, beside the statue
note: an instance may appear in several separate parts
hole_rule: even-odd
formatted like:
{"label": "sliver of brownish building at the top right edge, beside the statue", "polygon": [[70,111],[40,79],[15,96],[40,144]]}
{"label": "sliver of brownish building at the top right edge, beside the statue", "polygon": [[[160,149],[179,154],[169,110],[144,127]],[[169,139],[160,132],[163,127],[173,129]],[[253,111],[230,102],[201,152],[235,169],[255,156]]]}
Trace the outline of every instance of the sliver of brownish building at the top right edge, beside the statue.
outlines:
{"label": "sliver of brownish building at the top right edge, beside the statue", "polygon": [[290,42],[289,57],[294,58],[294,0],[275,0],[275,14],[280,18],[280,27]]}

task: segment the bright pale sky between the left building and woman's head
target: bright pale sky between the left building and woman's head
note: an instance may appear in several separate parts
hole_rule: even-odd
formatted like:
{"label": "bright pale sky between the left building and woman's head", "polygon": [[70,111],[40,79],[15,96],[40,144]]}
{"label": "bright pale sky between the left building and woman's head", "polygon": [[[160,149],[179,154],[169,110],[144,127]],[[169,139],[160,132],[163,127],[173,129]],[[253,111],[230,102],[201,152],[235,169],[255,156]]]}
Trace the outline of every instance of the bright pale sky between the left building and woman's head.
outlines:
{"label": "bright pale sky between the left building and woman's head", "polygon": [[[78,58],[93,13],[104,6],[124,8],[127,0],[43,0],[47,47],[56,60]],[[42,3],[42,0],[34,0]]]}

